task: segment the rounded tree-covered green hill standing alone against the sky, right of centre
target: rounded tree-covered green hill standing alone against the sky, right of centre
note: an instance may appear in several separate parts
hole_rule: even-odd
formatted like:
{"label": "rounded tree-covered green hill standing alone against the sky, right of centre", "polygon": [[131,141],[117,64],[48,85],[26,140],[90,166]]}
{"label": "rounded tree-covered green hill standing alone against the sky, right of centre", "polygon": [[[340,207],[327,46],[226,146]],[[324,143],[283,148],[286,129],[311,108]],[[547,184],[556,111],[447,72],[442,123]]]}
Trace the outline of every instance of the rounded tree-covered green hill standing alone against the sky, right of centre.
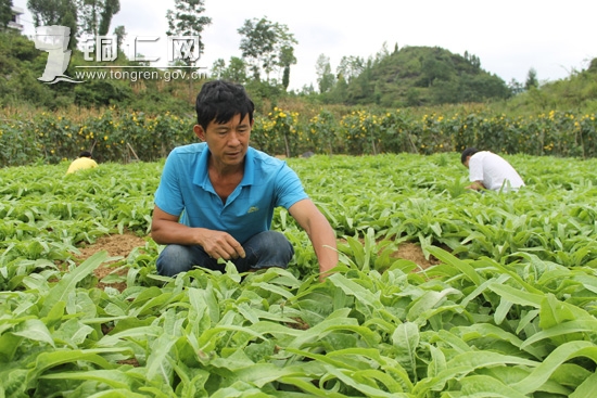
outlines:
{"label": "rounded tree-covered green hill standing alone against the sky, right of centre", "polygon": [[481,68],[475,55],[439,47],[404,47],[369,60],[363,72],[339,78],[327,100],[384,107],[483,102],[510,95],[506,82]]}

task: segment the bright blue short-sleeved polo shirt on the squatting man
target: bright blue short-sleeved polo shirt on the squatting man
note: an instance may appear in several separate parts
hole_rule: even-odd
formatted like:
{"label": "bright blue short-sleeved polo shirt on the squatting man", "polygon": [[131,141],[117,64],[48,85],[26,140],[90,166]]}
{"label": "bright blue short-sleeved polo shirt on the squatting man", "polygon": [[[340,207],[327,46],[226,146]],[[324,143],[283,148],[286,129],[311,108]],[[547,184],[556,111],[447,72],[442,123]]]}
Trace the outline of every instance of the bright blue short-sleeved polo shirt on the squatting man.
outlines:
{"label": "bright blue short-sleeved polo shirt on the squatting man", "polygon": [[180,222],[189,227],[225,231],[244,244],[269,230],[276,207],[288,209],[308,197],[285,162],[249,147],[244,176],[224,204],[209,180],[208,158],[204,142],[176,147],[155,192],[155,205],[173,216],[185,211]]}

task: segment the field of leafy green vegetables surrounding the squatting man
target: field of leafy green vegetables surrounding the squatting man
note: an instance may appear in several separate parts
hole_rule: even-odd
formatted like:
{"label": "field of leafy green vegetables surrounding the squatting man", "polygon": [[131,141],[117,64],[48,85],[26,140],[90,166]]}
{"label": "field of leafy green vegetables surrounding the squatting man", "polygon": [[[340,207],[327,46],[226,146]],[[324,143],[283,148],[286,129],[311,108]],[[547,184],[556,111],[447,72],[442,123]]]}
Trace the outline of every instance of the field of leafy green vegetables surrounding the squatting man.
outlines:
{"label": "field of leafy green vegetables surrounding the squatting man", "polygon": [[597,161],[507,158],[517,193],[450,152],[289,159],[338,234],[323,283],[283,209],[288,270],[158,277],[162,162],[0,169],[0,397],[593,397]]}

